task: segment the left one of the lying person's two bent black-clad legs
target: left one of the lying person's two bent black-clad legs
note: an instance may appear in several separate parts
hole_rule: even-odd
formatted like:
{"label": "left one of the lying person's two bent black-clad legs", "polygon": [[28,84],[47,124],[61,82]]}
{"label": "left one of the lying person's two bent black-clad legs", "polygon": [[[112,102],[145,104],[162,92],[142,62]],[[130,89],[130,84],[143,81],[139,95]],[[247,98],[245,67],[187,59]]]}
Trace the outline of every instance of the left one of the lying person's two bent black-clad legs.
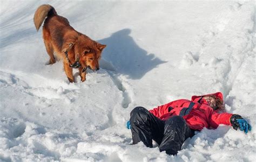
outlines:
{"label": "left one of the lying person's two bent black-clad legs", "polygon": [[152,147],[152,139],[159,145],[164,137],[164,121],[151,114],[143,107],[131,111],[132,144],[142,141],[147,147]]}

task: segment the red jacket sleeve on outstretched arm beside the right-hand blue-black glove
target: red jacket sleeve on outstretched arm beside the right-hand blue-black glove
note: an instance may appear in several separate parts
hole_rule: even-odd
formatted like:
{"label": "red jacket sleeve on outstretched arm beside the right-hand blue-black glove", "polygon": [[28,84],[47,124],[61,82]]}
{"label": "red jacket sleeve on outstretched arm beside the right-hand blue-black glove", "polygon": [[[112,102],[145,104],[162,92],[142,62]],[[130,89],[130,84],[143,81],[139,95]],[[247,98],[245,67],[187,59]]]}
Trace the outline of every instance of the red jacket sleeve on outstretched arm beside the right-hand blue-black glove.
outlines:
{"label": "red jacket sleeve on outstretched arm beside the right-hand blue-black glove", "polygon": [[208,123],[210,126],[214,129],[218,128],[220,124],[225,124],[225,125],[231,125],[230,123],[230,118],[233,114],[223,112],[223,113],[218,113],[213,111],[212,108],[210,109],[209,117],[208,117]]}

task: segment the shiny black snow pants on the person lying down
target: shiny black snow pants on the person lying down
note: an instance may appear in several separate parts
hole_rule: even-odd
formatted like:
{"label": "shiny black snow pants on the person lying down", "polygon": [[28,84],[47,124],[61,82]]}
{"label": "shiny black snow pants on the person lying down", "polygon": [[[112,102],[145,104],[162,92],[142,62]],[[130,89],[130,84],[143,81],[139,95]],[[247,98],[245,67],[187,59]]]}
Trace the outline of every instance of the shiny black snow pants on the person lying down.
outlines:
{"label": "shiny black snow pants on the person lying down", "polygon": [[177,154],[184,141],[194,135],[194,130],[187,126],[183,117],[173,116],[162,121],[143,107],[131,111],[130,124],[133,144],[142,141],[147,147],[152,147],[153,139],[160,151],[172,155]]}

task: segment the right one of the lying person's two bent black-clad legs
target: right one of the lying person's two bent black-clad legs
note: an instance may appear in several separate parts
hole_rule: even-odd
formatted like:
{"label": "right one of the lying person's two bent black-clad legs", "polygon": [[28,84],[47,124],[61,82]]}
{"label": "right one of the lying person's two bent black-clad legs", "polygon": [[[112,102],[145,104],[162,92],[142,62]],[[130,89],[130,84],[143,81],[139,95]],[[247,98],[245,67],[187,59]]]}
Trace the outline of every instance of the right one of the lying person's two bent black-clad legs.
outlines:
{"label": "right one of the lying person's two bent black-clad legs", "polygon": [[167,154],[177,154],[184,141],[193,135],[194,130],[187,126],[183,117],[173,116],[165,121],[164,137],[159,150],[166,151]]}

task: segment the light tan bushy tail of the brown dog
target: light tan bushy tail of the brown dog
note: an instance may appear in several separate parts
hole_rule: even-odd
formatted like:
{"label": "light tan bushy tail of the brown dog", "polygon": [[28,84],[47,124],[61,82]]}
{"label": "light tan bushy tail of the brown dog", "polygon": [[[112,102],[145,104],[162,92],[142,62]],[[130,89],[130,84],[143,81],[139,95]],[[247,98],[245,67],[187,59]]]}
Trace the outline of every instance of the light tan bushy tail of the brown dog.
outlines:
{"label": "light tan bushy tail of the brown dog", "polygon": [[34,15],[34,24],[36,26],[36,30],[39,30],[39,27],[42,25],[44,22],[44,19],[46,16],[53,16],[57,15],[57,12],[53,8],[53,6],[49,4],[43,4],[37,8],[35,15]]}

